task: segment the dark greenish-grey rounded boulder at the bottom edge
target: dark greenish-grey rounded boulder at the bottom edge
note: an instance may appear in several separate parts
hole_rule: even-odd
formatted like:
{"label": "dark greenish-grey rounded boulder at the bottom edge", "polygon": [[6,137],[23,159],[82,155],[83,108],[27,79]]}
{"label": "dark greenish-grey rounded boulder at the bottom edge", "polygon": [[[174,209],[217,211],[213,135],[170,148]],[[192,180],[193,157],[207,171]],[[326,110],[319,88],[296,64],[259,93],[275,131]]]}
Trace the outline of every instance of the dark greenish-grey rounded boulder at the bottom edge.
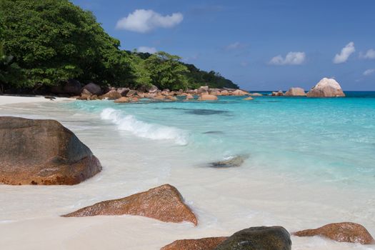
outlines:
{"label": "dark greenish-grey rounded boulder at the bottom edge", "polygon": [[257,226],[236,232],[215,250],[291,250],[291,239],[282,226]]}

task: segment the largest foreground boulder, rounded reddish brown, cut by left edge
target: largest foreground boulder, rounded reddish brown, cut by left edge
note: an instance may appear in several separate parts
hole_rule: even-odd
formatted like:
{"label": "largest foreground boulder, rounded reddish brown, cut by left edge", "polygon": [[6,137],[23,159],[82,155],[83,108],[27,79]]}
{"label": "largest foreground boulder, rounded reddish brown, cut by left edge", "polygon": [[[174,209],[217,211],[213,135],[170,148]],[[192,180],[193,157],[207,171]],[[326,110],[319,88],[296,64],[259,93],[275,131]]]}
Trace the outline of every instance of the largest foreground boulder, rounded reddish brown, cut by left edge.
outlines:
{"label": "largest foreground boulder, rounded reddish brown, cut by left edge", "polygon": [[0,117],[0,183],[73,185],[101,171],[91,150],[58,121]]}

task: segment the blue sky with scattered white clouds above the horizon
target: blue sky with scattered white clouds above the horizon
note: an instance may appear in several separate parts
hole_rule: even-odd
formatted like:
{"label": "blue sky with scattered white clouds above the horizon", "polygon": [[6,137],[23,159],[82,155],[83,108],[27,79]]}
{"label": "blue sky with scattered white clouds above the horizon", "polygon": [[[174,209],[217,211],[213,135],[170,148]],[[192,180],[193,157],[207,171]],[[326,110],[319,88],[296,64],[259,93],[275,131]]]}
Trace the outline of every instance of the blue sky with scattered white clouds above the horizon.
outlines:
{"label": "blue sky with scattered white clouds above the horizon", "polygon": [[374,0],[73,0],[121,49],[166,51],[247,90],[332,77],[375,90]]}

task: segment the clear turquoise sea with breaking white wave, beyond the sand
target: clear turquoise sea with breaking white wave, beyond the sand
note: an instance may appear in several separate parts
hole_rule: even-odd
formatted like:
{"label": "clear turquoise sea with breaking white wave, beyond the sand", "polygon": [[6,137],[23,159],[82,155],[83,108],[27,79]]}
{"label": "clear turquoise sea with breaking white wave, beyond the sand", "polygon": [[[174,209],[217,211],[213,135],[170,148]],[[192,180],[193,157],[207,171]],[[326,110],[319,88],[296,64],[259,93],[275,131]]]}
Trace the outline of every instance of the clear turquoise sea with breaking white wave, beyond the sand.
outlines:
{"label": "clear turquoise sea with breaking white wave, beyond the sand", "polygon": [[94,114],[145,143],[180,147],[202,162],[249,155],[246,165],[300,181],[375,184],[375,93],[346,98],[220,96],[219,101],[61,104]]}

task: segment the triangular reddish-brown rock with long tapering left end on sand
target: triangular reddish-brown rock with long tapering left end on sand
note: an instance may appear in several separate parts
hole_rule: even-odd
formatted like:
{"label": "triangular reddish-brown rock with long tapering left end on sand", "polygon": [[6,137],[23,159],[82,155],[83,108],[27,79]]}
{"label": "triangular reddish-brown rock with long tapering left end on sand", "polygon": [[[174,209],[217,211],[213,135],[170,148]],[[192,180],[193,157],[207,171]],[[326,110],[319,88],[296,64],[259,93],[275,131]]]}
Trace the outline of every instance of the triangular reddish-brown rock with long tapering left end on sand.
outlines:
{"label": "triangular reddish-brown rock with long tapering left end on sand", "polygon": [[184,204],[179,191],[169,184],[125,198],[101,201],[63,216],[82,217],[122,214],[146,216],[166,222],[189,221],[194,225],[197,224],[196,216],[189,209],[189,206]]}

